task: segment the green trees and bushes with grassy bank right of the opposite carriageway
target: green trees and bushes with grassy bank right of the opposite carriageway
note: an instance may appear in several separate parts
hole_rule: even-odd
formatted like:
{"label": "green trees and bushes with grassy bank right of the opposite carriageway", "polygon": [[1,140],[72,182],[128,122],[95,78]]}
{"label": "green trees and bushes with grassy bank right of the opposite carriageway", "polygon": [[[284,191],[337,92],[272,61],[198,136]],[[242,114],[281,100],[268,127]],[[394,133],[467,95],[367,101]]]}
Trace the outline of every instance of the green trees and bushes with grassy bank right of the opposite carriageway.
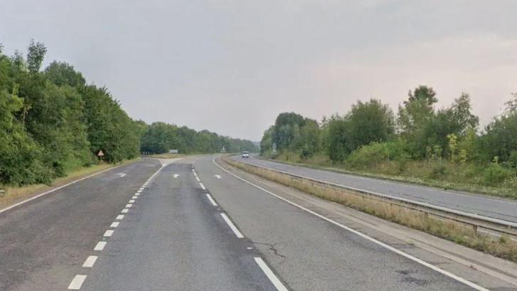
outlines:
{"label": "green trees and bushes with grassy bank right of the opposite carriageway", "polygon": [[390,176],[502,185],[515,192],[517,95],[483,130],[469,95],[442,109],[437,101],[432,88],[420,86],[396,114],[375,99],[320,123],[281,113],[262,137],[261,154]]}

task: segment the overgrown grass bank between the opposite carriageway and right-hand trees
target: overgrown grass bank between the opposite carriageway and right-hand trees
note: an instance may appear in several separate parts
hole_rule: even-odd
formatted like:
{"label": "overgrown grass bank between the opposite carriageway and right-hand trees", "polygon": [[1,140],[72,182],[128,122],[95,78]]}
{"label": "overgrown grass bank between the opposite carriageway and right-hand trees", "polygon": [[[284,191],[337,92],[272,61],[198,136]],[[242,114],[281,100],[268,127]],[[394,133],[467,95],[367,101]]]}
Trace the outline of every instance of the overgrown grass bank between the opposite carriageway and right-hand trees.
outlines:
{"label": "overgrown grass bank between the opposite carriageway and right-hand trees", "polygon": [[445,159],[371,159],[372,162],[331,162],[323,154],[302,159],[299,154],[286,152],[275,157],[279,162],[308,166],[315,169],[357,174],[372,178],[403,181],[441,189],[468,191],[509,199],[517,199],[517,171],[499,164],[453,163]]}

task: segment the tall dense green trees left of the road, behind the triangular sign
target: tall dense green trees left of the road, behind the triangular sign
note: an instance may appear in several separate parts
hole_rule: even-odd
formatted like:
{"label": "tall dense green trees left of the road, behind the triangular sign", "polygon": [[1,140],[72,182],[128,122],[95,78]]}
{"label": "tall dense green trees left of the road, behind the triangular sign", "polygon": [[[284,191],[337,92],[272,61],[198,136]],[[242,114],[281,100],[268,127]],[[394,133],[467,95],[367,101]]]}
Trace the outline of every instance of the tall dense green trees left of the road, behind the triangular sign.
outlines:
{"label": "tall dense green trees left of the road, behind the triangular sign", "polygon": [[68,171],[139,154],[137,124],[106,88],[87,85],[67,63],[41,70],[46,47],[26,58],[0,47],[0,184],[48,183]]}

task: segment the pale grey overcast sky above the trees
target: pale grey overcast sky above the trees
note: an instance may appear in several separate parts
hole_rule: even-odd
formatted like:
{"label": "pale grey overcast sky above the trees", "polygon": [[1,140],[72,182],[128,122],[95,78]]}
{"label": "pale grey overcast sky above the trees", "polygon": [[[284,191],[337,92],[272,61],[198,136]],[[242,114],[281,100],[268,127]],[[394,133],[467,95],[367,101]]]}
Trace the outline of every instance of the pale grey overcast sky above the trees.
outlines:
{"label": "pale grey overcast sky above the trees", "polygon": [[279,112],[395,108],[417,85],[468,92],[486,124],[517,92],[517,1],[2,0],[0,43],[31,38],[134,119],[260,140]]}

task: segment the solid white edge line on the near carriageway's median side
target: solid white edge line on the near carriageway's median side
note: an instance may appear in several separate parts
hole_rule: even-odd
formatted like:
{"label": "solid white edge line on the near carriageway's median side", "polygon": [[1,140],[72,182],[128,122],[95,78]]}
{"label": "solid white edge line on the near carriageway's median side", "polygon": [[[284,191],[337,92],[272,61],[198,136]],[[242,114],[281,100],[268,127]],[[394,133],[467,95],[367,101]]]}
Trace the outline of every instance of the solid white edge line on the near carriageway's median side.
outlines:
{"label": "solid white edge line on the near carriageway's median side", "polygon": [[385,244],[385,243],[381,242],[380,240],[376,240],[375,238],[371,238],[370,236],[366,236],[366,234],[364,234],[364,233],[360,233],[359,231],[356,231],[356,230],[355,230],[355,229],[353,229],[353,228],[349,228],[348,226],[343,226],[343,224],[341,224],[341,223],[339,223],[339,222],[336,222],[336,221],[333,221],[333,220],[332,220],[332,219],[330,219],[330,218],[326,218],[325,216],[322,216],[322,215],[321,215],[321,214],[319,214],[319,213],[316,213],[316,212],[314,212],[314,211],[311,211],[311,210],[309,210],[308,208],[305,208],[304,206],[300,206],[300,205],[298,205],[297,203],[294,203],[294,202],[292,202],[292,201],[289,201],[289,200],[287,200],[287,199],[284,199],[283,197],[278,196],[277,194],[274,194],[274,193],[272,193],[271,191],[268,191],[268,190],[266,190],[266,189],[262,188],[261,186],[255,185],[255,184],[253,184],[253,183],[252,183],[252,182],[250,182],[250,181],[247,181],[247,180],[245,180],[245,179],[242,179],[240,176],[237,176],[236,174],[233,174],[232,172],[230,172],[230,171],[228,171],[228,170],[224,169],[222,166],[219,166],[219,164],[217,164],[217,163],[215,162],[215,160],[214,160],[214,159],[212,159],[212,162],[213,162],[213,164],[215,164],[215,166],[218,166],[218,168],[219,168],[219,169],[222,169],[223,171],[227,172],[228,174],[230,174],[230,175],[234,176],[235,178],[237,178],[237,179],[239,179],[239,180],[241,180],[241,181],[243,181],[243,182],[245,182],[245,183],[247,183],[247,184],[250,184],[251,186],[254,186],[254,187],[255,187],[255,188],[257,188],[257,189],[260,189],[260,190],[262,190],[262,191],[265,191],[267,194],[270,194],[270,195],[272,195],[272,196],[275,196],[277,199],[280,199],[280,200],[282,200],[282,201],[285,201],[285,202],[287,202],[287,203],[289,203],[289,204],[291,204],[291,205],[293,205],[293,206],[296,206],[297,208],[300,208],[300,209],[302,209],[302,210],[304,210],[304,211],[307,211],[308,213],[311,213],[311,214],[312,214],[312,215],[314,215],[314,216],[317,216],[317,217],[319,217],[319,218],[321,218],[321,219],[323,219],[323,220],[325,220],[325,221],[328,221],[329,223],[332,223],[332,224],[334,224],[335,226],[339,226],[340,228],[343,228],[343,229],[345,229],[346,231],[349,231],[349,232],[351,232],[351,233],[354,233],[354,234],[356,234],[357,236],[361,236],[361,238],[365,238],[366,240],[370,240],[372,243],[376,243],[376,244],[378,244],[378,245],[382,246],[383,248],[386,248],[386,249],[388,249],[388,250],[393,251],[393,253],[397,253],[398,255],[402,255],[403,257],[405,257],[405,258],[407,258],[407,259],[410,259],[410,260],[412,260],[412,261],[414,261],[414,262],[416,262],[416,263],[419,263],[420,265],[424,265],[424,266],[425,266],[425,267],[427,267],[427,268],[430,268],[430,269],[432,269],[432,270],[435,270],[436,272],[441,273],[442,275],[446,275],[447,277],[450,277],[450,278],[452,278],[452,279],[454,279],[454,280],[457,280],[458,282],[462,282],[463,284],[465,284],[465,285],[467,285],[467,286],[469,286],[469,287],[472,287],[472,288],[474,288],[475,290],[478,290],[478,291],[490,291],[490,290],[488,290],[488,289],[486,289],[486,288],[484,288],[484,287],[481,287],[481,286],[479,286],[479,285],[474,284],[473,282],[470,282],[469,280],[466,280],[466,279],[464,279],[464,278],[462,278],[462,277],[459,277],[459,276],[457,276],[457,275],[454,275],[454,274],[452,274],[452,273],[449,273],[449,272],[447,272],[446,270],[442,270],[442,269],[438,268],[438,267],[437,267],[437,266],[435,266],[435,265],[431,265],[430,263],[427,263],[427,262],[425,262],[424,260],[420,260],[419,258],[416,258],[416,257],[414,257],[414,256],[412,256],[412,255],[410,255],[410,254],[408,254],[408,253],[404,253],[402,250],[398,250],[397,248],[393,248],[391,245],[387,245],[387,244]]}

